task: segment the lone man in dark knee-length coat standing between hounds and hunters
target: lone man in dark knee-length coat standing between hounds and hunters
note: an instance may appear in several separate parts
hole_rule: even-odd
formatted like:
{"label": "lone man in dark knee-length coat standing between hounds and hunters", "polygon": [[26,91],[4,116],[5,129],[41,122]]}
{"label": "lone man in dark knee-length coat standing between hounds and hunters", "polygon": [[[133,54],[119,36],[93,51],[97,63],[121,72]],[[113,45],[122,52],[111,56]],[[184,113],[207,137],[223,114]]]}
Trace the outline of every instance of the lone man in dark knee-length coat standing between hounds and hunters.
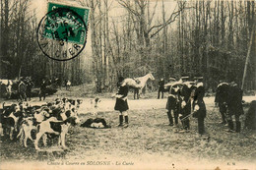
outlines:
{"label": "lone man in dark knee-length coat standing between hounds and hunters", "polygon": [[[118,78],[118,83],[117,83],[117,87],[118,87],[118,91],[116,93],[116,102],[115,102],[115,106],[114,106],[114,110],[118,110],[119,113],[119,127],[128,127],[128,113],[127,110],[129,109],[128,103],[127,103],[127,94],[128,94],[128,90],[129,87],[128,85],[125,85],[123,83],[124,78],[123,77],[119,77]],[[125,119],[125,125],[123,125],[123,117]]]}

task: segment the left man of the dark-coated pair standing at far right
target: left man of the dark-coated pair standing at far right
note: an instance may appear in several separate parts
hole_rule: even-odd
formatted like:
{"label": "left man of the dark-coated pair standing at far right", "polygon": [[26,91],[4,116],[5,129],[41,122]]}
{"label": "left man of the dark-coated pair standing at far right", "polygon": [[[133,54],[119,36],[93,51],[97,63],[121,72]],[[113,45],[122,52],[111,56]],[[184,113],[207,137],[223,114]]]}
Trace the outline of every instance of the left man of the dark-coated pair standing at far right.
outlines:
{"label": "left man of the dark-coated pair standing at far right", "polygon": [[229,85],[227,83],[221,83],[217,86],[216,96],[215,96],[215,103],[220,108],[220,113],[222,115],[223,122],[222,124],[226,124],[226,100],[227,100],[227,93],[228,93]]}

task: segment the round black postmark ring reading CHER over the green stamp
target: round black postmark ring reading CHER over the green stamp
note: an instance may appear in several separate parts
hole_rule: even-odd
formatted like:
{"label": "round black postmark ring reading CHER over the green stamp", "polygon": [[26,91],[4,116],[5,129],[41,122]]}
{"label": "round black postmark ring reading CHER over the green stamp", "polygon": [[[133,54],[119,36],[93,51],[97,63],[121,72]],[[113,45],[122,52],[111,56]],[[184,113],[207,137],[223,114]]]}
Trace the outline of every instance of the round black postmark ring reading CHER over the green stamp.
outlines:
{"label": "round black postmark ring reading CHER over the green stamp", "polygon": [[47,57],[67,61],[85,48],[87,30],[83,18],[74,10],[57,8],[41,19],[36,32],[37,42]]}

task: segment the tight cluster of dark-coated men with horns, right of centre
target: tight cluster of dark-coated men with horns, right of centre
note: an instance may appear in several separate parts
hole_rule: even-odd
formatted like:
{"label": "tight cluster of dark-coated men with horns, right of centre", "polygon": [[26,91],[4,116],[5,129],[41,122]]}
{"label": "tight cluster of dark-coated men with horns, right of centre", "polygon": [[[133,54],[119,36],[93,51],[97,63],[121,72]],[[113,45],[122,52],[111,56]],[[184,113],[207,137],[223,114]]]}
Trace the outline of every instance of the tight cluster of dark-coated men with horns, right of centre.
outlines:
{"label": "tight cluster of dark-coated men with horns, right of centre", "polygon": [[169,125],[173,126],[181,121],[185,132],[190,130],[190,116],[198,119],[198,133],[205,133],[204,120],[206,117],[206,106],[204,102],[205,87],[203,77],[194,77],[194,82],[189,81],[188,76],[183,76],[176,82],[170,78],[168,88],[168,99],[166,103]]}

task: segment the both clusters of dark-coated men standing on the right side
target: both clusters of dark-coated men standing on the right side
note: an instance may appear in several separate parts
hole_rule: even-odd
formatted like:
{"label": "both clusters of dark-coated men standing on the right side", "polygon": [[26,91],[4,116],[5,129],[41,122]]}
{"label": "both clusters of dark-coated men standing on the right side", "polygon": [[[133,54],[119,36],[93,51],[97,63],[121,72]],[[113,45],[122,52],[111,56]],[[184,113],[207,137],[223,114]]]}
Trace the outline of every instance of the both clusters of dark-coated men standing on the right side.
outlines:
{"label": "both clusters of dark-coated men standing on the right side", "polygon": [[[162,88],[168,90],[166,109],[169,125],[176,126],[180,120],[184,131],[188,132],[190,129],[189,118],[192,116],[197,118],[198,133],[203,135],[205,133],[204,120],[207,113],[204,102],[205,86],[203,77],[194,77],[193,81],[189,81],[188,76],[181,77],[179,81],[176,81],[175,78],[170,78],[169,83],[165,86],[162,86],[162,81],[160,80],[159,91]],[[217,86],[215,103],[220,107],[222,123],[228,125],[228,132],[239,133],[241,131],[239,117],[243,114],[242,93],[242,89],[234,82],[230,84],[221,83]],[[233,116],[235,126],[232,121]]]}

